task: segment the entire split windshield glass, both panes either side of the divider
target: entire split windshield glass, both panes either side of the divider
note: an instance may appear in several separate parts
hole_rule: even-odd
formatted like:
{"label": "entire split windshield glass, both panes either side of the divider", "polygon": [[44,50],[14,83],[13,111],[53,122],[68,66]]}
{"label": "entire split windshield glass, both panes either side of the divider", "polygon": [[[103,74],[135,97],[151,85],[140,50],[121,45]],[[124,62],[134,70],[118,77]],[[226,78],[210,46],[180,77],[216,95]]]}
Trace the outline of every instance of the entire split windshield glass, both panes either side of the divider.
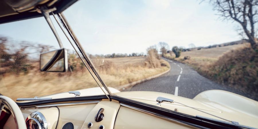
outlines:
{"label": "entire split windshield glass, both panes either side of the divider", "polygon": [[[241,112],[249,116],[248,125],[258,116],[257,15],[245,27],[216,4],[78,1],[63,13],[112,95],[237,122],[244,121],[237,116]],[[83,53],[54,25],[67,49],[64,73],[40,72],[40,53],[60,49],[44,17],[0,25],[1,94],[13,100],[68,91],[104,95],[80,59]]]}

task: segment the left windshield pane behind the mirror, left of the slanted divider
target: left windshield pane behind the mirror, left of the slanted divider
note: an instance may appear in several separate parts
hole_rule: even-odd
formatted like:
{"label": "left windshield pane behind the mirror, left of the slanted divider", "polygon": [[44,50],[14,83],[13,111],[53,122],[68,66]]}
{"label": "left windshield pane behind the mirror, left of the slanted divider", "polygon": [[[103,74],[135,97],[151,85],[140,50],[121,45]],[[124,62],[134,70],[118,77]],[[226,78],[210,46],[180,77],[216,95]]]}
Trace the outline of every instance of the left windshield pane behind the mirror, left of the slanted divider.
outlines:
{"label": "left windshield pane behind the mirror, left of the slanted divider", "polygon": [[[54,18],[51,18],[54,21]],[[56,23],[54,25],[58,26]],[[104,95],[60,28],[56,27],[63,46],[67,49],[68,71],[40,71],[40,53],[60,49],[44,17],[1,24],[0,28],[2,95],[15,101],[17,98],[33,98],[69,91],[80,91],[81,96]],[[63,93],[58,97],[51,97],[54,99],[74,96]]]}

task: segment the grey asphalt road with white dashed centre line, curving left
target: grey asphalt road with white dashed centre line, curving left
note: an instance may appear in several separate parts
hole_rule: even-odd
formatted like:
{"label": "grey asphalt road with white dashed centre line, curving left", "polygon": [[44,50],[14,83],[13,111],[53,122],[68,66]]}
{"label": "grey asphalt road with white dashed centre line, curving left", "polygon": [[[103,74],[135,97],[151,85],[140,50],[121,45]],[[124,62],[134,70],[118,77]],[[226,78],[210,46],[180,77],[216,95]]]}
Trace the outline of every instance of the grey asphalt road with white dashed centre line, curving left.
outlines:
{"label": "grey asphalt road with white dashed centre line, curving left", "polygon": [[169,72],[123,91],[157,91],[192,99],[202,91],[220,89],[245,96],[236,89],[220,85],[201,76],[186,64],[169,59],[165,60],[170,64]]}

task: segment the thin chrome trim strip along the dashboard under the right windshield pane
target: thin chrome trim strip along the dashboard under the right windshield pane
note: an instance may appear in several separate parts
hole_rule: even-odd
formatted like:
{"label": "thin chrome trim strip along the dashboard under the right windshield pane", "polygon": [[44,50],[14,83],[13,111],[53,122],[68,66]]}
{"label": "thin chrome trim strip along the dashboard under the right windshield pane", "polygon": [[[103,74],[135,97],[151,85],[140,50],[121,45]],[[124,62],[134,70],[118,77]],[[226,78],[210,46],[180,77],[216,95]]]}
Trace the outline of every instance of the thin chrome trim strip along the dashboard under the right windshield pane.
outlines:
{"label": "thin chrome trim strip along the dashboard under the right windshield pane", "polygon": [[173,121],[173,122],[178,122],[178,123],[181,123],[181,124],[185,124],[185,125],[193,126],[193,127],[197,127],[197,128],[205,128],[205,127],[198,126],[198,125],[195,125],[195,124],[191,124],[191,123],[188,123],[188,122],[182,122],[182,121],[179,121],[179,120],[175,120],[175,119],[169,118],[167,116],[163,116],[163,115],[160,115],[160,114],[157,114],[157,113],[154,113],[154,112],[146,111],[146,110],[143,110],[143,109],[140,109],[140,108],[137,108],[137,107],[133,107],[133,106],[130,106],[130,105],[126,105],[126,104],[123,104],[123,103],[120,103],[120,105],[123,106],[123,107],[130,108],[132,110],[143,112],[143,113],[146,113],[146,114],[149,114],[149,115],[152,115],[152,116],[157,116],[159,118],[167,119],[167,120],[170,120],[170,121]]}

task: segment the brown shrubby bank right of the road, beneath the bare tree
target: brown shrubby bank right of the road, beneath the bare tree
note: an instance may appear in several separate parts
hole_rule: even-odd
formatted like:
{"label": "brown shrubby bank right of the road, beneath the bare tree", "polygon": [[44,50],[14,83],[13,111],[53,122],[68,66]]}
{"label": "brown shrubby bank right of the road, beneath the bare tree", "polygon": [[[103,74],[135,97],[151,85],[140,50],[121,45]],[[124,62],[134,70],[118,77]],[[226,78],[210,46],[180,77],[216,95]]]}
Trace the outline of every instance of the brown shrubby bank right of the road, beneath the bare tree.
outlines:
{"label": "brown shrubby bank right of the road, beneath the bare tree", "polygon": [[[258,51],[251,47],[225,53],[208,71],[207,77],[240,89],[246,93],[258,92]],[[256,95],[258,97],[258,95]]]}

